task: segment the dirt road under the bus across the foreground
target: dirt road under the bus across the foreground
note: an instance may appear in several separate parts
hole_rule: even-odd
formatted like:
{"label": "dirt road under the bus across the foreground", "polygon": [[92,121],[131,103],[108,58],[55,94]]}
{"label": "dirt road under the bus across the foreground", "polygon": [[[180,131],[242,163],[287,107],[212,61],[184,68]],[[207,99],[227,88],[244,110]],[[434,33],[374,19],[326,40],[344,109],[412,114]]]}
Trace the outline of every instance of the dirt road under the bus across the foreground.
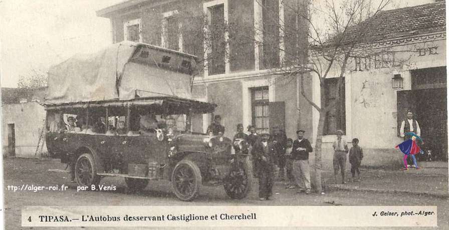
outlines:
{"label": "dirt road under the bus across the foreground", "polygon": [[[21,209],[29,205],[330,205],[335,201],[342,205],[436,205],[438,226],[447,229],[449,202],[431,196],[406,196],[373,192],[331,191],[321,195],[297,194],[276,183],[273,200],[259,201],[257,182],[249,196],[243,200],[230,199],[222,187],[202,187],[201,194],[193,202],[183,202],[171,192],[169,181],[153,181],[141,193],[128,193],[122,178],[104,178],[102,184],[115,185],[115,191],[77,191],[68,174],[48,172],[49,168],[64,168],[57,160],[5,159],[5,229],[21,227]],[[8,185],[68,185],[65,191],[12,191]],[[36,228],[36,227],[35,227]]]}

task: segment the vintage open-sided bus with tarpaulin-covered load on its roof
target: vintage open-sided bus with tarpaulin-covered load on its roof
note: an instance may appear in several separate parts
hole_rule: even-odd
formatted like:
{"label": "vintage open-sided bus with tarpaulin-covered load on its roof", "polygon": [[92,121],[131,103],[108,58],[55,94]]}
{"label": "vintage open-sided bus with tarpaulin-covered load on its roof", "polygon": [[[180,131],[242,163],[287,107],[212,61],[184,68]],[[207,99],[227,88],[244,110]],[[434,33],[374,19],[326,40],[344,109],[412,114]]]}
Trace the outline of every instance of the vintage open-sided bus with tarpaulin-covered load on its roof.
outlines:
{"label": "vintage open-sided bus with tarpaulin-covered load on its roof", "polygon": [[245,145],[192,132],[191,117],[216,107],[190,99],[195,63],[188,54],[122,42],[52,67],[45,99],[49,155],[70,166],[79,186],[118,176],[136,191],[150,180],[170,180],[185,201],[202,185],[246,197],[252,173],[247,151],[239,150]]}

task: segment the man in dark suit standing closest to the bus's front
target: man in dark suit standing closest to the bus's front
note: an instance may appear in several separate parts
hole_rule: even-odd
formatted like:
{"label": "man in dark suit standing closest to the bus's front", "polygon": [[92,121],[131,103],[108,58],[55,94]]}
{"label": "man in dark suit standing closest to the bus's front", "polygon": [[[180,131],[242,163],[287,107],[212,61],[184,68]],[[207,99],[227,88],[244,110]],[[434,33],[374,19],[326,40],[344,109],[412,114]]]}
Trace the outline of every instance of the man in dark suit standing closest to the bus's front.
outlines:
{"label": "man in dark suit standing closest to the bus's front", "polygon": [[254,144],[253,151],[258,161],[259,199],[267,200],[273,194],[273,179],[277,152],[275,146],[268,140],[268,133],[262,134],[262,140]]}

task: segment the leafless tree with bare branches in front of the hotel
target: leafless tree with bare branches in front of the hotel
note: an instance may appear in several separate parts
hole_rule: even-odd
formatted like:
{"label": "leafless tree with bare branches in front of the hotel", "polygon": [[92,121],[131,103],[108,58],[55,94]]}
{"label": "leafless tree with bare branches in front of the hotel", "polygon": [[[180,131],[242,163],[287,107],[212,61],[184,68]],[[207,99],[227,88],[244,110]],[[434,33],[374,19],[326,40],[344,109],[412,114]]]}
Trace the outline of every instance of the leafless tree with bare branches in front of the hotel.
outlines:
{"label": "leafless tree with bare branches in front of the hotel", "polygon": [[[259,1],[264,14],[272,14],[272,23],[276,24],[271,38],[282,43],[278,46],[284,59],[272,68],[273,72],[283,78],[299,77],[301,95],[319,113],[317,136],[315,141],[315,186],[318,192],[322,191],[322,137],[325,135],[326,114],[337,106],[340,106],[341,96],[344,95],[344,76],[348,66],[354,64],[353,60],[371,60],[378,62],[379,56],[387,54],[388,49],[374,49],[366,46],[374,42],[371,35],[381,25],[381,11],[389,4],[389,0],[325,0],[325,1],[282,1],[284,8],[283,17],[279,17],[277,8],[265,6],[267,1]],[[376,3],[375,3],[376,2]],[[289,15],[289,18],[287,18]],[[260,24],[267,22],[260,22]],[[258,29],[258,28],[256,28]],[[306,36],[301,37],[306,33]],[[264,41],[259,42],[265,48],[273,41],[266,41],[269,31],[264,27],[256,33],[264,34]],[[306,39],[308,44],[301,45],[301,40]],[[287,43],[293,44],[287,47]],[[385,60],[382,60],[382,62]],[[330,74],[338,73],[337,76]],[[299,75],[299,76],[298,76]],[[306,76],[316,77],[320,85],[320,103],[314,102],[305,92],[304,79]],[[328,103],[326,101],[326,88],[328,78],[337,78],[337,96]],[[315,89],[313,89],[315,90]],[[299,108],[298,108],[299,109]],[[343,108],[344,110],[344,108]],[[344,124],[344,122],[343,122]]]}

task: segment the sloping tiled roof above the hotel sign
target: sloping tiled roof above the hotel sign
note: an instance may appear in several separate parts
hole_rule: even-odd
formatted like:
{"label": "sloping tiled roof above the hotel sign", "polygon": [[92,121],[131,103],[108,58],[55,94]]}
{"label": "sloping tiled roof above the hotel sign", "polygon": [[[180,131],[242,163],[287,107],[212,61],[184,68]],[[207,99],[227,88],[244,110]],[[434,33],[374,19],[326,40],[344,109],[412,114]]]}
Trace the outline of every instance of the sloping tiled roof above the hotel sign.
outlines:
{"label": "sloping tiled roof above the hotel sign", "polygon": [[[373,43],[409,38],[446,30],[445,1],[381,11],[365,22],[349,28],[347,43]],[[361,36],[360,36],[361,35]]]}

